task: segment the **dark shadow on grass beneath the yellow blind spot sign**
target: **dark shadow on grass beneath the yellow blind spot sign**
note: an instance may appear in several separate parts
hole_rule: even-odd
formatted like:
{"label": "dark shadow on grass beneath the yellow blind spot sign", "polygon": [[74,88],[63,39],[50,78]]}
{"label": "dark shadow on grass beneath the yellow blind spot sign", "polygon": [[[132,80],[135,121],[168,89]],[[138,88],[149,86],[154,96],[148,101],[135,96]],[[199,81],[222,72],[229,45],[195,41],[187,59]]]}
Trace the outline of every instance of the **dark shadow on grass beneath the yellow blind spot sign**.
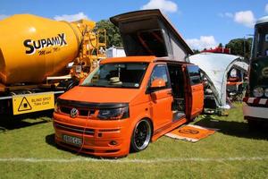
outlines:
{"label": "dark shadow on grass beneath the yellow blind spot sign", "polygon": [[27,115],[2,115],[0,119],[0,132],[48,123],[51,121],[52,115],[52,110]]}

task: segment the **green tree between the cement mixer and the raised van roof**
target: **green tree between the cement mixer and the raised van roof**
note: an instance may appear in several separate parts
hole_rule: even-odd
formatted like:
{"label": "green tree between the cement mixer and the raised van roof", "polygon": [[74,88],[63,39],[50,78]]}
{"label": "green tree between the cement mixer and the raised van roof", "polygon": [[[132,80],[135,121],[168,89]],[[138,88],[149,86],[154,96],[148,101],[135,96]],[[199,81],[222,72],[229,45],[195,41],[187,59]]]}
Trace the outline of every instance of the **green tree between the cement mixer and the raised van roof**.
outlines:
{"label": "green tree between the cement mixer and the raised van roof", "polygon": [[[117,27],[109,20],[101,20],[96,22],[96,30],[105,29],[107,37],[107,47],[122,47],[121,35]],[[103,37],[100,37],[103,38]]]}

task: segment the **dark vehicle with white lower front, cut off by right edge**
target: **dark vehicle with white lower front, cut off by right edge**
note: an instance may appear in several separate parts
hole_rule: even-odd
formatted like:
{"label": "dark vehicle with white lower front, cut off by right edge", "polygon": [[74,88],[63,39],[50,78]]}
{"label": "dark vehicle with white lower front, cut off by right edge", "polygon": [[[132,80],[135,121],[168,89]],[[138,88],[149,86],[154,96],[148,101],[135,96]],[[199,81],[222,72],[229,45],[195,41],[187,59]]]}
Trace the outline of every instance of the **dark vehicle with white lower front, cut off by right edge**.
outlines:
{"label": "dark vehicle with white lower front, cut off by right edge", "polygon": [[268,121],[268,16],[255,23],[249,84],[243,113],[250,127]]}

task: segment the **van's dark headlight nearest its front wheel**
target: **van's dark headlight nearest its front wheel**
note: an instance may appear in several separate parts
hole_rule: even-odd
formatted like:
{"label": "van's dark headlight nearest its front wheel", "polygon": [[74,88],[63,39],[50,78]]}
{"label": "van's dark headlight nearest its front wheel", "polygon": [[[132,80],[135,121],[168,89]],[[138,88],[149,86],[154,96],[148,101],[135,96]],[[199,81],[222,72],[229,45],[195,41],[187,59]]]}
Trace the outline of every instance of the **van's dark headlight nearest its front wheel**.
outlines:
{"label": "van's dark headlight nearest its front wheel", "polygon": [[129,107],[100,109],[97,118],[102,120],[118,120],[130,117]]}

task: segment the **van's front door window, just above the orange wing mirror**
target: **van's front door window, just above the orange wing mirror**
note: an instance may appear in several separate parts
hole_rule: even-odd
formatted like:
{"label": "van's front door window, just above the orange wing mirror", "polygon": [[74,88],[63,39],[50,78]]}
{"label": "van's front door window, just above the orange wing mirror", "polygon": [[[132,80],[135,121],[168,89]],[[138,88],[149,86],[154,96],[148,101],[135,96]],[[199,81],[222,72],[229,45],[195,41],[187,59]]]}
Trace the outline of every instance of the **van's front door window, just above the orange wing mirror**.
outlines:
{"label": "van's front door window, just above the orange wing mirror", "polygon": [[155,79],[160,79],[160,78],[165,81],[165,87],[170,86],[166,66],[164,64],[158,64],[155,66],[151,74],[150,82],[154,81]]}

